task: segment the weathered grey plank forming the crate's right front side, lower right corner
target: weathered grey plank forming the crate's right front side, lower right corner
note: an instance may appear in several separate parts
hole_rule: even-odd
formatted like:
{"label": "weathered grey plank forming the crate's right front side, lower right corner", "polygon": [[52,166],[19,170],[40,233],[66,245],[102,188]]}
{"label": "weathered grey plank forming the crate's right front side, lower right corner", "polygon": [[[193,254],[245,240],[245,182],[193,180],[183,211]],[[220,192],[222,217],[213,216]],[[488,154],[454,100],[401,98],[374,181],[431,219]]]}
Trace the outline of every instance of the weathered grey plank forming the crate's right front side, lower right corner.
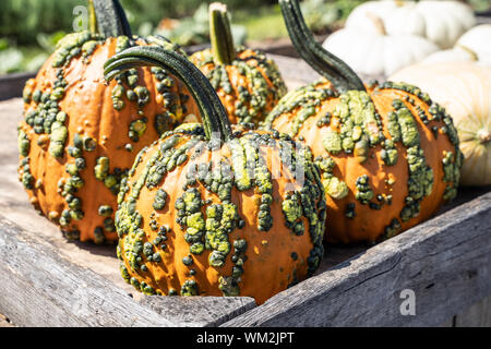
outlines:
{"label": "weathered grey plank forming the crate's right front side, lower right corner", "polygon": [[[403,290],[416,315],[403,316]],[[491,294],[491,192],[276,294],[224,326],[439,326]]]}

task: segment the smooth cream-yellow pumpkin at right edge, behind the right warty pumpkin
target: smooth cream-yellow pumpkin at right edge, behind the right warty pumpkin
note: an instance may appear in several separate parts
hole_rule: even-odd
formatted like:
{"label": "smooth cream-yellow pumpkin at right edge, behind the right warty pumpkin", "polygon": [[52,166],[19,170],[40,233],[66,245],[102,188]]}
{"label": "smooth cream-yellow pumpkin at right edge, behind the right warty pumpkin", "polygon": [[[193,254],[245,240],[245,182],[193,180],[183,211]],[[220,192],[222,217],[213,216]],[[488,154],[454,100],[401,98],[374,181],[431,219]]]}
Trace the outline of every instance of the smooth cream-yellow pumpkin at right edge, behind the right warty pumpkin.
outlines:
{"label": "smooth cream-yellow pumpkin at right edge, behind the right warty pumpkin", "polygon": [[421,63],[391,79],[418,84],[452,116],[465,157],[460,185],[491,184],[491,68],[472,62]]}

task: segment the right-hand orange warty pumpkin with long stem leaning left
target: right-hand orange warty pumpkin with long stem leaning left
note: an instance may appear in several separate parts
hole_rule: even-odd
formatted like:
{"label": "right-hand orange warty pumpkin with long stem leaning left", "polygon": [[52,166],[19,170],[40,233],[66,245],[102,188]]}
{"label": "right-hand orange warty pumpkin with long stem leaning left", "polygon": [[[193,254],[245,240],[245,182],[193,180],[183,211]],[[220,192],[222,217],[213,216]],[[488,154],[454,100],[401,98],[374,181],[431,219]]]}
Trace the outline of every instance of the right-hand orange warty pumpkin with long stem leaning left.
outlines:
{"label": "right-hand orange warty pumpkin with long stem leaning left", "polygon": [[364,86],[319,45],[299,3],[279,1],[299,55],[321,81],[287,94],[263,127],[304,142],[322,172],[330,242],[378,242],[456,195],[462,153],[452,118],[420,88]]}

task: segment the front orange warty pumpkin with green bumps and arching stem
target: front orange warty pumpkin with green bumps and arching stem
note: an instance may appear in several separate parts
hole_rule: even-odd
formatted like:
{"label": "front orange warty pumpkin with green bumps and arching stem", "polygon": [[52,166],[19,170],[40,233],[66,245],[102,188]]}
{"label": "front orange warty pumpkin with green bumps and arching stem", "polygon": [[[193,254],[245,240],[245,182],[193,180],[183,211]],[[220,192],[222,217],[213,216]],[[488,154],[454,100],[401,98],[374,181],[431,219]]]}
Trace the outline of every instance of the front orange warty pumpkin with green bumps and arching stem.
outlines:
{"label": "front orange warty pumpkin with green bumps and arching stem", "polygon": [[[129,49],[106,68],[110,74],[133,60],[176,70],[204,121],[166,132],[123,180],[116,214],[121,274],[148,294],[249,296],[261,304],[311,275],[322,258],[319,168],[286,135],[230,129],[206,77],[178,58]],[[304,164],[304,181],[292,177],[289,157]]]}

